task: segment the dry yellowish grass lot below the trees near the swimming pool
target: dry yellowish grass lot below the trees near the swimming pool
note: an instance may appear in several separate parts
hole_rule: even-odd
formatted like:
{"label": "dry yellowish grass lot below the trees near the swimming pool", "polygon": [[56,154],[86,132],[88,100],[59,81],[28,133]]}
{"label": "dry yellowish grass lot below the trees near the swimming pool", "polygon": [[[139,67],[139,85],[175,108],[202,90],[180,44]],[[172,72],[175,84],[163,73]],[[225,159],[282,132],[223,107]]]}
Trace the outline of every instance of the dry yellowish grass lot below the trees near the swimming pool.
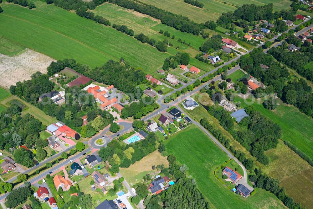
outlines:
{"label": "dry yellowish grass lot below the trees near the swimming pool", "polygon": [[157,166],[161,164],[167,167],[167,158],[163,157],[161,153],[156,150],[153,153],[150,153],[146,157],[142,158],[140,161],[132,164],[130,167],[120,168],[120,172],[128,183],[130,183],[131,185],[135,185],[136,183],[141,182],[146,174],[155,174],[152,170],[152,165]]}

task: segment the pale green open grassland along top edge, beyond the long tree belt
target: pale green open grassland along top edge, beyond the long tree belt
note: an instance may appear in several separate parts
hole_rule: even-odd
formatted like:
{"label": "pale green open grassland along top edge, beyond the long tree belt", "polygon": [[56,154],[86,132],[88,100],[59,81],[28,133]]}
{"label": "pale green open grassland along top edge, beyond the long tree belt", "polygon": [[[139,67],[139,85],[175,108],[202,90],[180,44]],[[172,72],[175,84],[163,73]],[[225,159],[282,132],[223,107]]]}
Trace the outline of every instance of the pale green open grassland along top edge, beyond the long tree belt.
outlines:
{"label": "pale green open grassland along top edge, beyond the long tree belt", "polygon": [[[265,5],[273,3],[274,10],[289,9],[290,1],[288,0],[199,0],[204,3],[203,8],[192,6],[191,4],[184,3],[183,0],[139,0],[140,2],[155,5],[158,8],[168,10],[175,14],[187,16],[189,19],[197,22],[204,23],[207,20],[217,20],[223,12],[231,12],[236,10],[235,6],[242,6],[243,4],[255,3],[257,5]],[[226,4],[224,3],[226,2]]]}

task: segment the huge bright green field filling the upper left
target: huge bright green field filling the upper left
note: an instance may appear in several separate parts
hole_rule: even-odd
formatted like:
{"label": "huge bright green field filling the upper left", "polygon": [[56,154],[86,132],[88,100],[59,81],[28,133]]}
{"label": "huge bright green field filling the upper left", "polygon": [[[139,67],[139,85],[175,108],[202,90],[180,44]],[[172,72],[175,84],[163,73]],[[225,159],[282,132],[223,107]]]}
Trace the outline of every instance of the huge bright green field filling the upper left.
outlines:
{"label": "huge bright green field filling the upper left", "polygon": [[41,1],[35,1],[35,5],[36,9],[30,10],[13,3],[1,4],[4,12],[0,16],[0,36],[56,60],[73,58],[90,67],[124,57],[132,66],[149,73],[161,67],[169,56],[62,8]]}

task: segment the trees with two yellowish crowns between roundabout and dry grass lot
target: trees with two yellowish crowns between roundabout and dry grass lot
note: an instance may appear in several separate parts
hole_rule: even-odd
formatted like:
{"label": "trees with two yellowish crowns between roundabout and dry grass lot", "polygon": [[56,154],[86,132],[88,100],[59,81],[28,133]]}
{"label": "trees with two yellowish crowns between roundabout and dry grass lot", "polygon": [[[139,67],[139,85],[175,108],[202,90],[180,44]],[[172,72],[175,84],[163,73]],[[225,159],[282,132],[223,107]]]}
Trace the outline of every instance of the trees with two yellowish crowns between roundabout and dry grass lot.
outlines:
{"label": "trees with two yellowish crowns between roundabout and dry grass lot", "polygon": [[159,137],[155,133],[150,133],[144,140],[126,146],[121,146],[119,141],[113,140],[107,147],[100,149],[99,156],[105,162],[110,163],[112,172],[118,173],[119,167],[128,168],[131,164],[156,151],[159,146],[158,141]]}

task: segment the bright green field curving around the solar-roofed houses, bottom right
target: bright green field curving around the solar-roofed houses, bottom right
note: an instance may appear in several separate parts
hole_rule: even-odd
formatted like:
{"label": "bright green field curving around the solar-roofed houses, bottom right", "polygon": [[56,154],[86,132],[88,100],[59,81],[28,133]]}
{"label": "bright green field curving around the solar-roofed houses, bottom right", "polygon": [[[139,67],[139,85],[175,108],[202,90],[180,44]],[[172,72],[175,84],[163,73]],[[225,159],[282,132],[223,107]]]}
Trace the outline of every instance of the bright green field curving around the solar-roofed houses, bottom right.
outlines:
{"label": "bright green field curving around the solar-roofed houses, bottom right", "polygon": [[214,170],[229,158],[198,127],[191,125],[165,141],[167,151],[186,164],[202,194],[213,208],[284,208],[273,194],[257,189],[247,199],[234,194],[214,176]]}

